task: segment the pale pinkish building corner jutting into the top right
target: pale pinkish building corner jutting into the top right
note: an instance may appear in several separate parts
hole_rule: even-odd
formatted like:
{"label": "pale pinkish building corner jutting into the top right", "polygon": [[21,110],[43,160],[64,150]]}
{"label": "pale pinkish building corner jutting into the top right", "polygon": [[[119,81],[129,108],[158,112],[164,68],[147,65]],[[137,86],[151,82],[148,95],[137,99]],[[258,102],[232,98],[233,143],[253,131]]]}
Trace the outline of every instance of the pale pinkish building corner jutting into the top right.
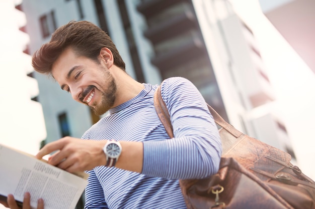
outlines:
{"label": "pale pinkish building corner jutting into the top right", "polygon": [[315,1],[259,0],[263,13],[315,73]]}

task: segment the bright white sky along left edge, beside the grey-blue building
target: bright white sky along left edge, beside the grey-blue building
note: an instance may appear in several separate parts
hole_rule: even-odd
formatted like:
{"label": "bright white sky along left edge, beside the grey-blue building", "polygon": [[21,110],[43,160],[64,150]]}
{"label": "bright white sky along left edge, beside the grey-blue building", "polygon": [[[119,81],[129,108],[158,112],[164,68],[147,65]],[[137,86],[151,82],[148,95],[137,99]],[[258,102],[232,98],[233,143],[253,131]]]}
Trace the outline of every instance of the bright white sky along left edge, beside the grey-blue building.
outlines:
{"label": "bright white sky along left edge, beside the grey-blue building", "polygon": [[[0,144],[35,155],[46,138],[46,128],[42,106],[34,101],[37,81],[27,76],[33,68],[31,56],[23,52],[29,43],[29,36],[21,31],[26,18],[15,8],[21,1],[0,4]],[[6,207],[0,204],[0,208]]]}

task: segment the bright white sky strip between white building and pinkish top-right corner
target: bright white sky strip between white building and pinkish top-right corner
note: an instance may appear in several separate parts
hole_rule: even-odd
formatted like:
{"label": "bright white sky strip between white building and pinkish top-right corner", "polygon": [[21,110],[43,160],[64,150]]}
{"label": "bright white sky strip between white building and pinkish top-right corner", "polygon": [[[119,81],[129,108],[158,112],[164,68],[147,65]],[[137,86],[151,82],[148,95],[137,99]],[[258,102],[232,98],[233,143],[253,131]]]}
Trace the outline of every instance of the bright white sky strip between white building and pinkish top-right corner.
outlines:
{"label": "bright white sky strip between white building and pinkish top-right corner", "polygon": [[276,95],[274,110],[284,119],[297,165],[315,179],[315,73],[264,16],[258,0],[230,2],[253,30]]}

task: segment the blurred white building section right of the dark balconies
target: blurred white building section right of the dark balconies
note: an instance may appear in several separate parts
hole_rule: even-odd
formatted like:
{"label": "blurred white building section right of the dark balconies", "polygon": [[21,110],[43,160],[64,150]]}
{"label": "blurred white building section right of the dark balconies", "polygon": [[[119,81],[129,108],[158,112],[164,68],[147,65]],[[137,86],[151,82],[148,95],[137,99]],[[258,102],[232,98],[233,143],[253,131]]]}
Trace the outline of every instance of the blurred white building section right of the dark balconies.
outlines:
{"label": "blurred white building section right of the dark balconies", "polygon": [[252,30],[227,1],[200,2],[194,6],[230,123],[293,154],[285,125],[272,112],[275,97]]}

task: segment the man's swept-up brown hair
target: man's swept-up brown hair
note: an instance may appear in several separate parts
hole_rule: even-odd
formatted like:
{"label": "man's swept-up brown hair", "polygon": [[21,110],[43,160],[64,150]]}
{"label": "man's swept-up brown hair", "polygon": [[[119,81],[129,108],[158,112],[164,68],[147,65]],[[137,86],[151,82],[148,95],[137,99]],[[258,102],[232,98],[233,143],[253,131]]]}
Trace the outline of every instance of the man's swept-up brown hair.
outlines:
{"label": "man's swept-up brown hair", "polygon": [[101,49],[107,47],[113,53],[114,65],[125,71],[125,63],[111,38],[88,21],[71,21],[58,28],[52,34],[51,40],[34,53],[33,68],[39,73],[51,75],[53,63],[68,47],[71,47],[76,55],[90,58],[97,63]]}

